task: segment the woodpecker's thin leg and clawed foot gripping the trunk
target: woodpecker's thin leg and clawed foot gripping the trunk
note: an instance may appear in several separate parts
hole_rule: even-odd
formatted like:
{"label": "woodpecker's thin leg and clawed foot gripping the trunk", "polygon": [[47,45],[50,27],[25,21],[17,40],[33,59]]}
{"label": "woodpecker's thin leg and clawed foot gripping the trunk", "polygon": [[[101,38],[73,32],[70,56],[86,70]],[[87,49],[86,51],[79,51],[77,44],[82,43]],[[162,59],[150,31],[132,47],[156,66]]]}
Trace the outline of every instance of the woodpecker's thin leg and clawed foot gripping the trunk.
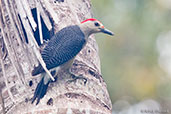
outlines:
{"label": "woodpecker's thin leg and clawed foot gripping the trunk", "polygon": [[87,78],[85,78],[83,75],[76,76],[70,70],[69,70],[69,73],[70,73],[70,75],[72,77],[72,80],[68,80],[67,81],[68,83],[76,82],[78,79],[84,80],[84,85],[87,83]]}

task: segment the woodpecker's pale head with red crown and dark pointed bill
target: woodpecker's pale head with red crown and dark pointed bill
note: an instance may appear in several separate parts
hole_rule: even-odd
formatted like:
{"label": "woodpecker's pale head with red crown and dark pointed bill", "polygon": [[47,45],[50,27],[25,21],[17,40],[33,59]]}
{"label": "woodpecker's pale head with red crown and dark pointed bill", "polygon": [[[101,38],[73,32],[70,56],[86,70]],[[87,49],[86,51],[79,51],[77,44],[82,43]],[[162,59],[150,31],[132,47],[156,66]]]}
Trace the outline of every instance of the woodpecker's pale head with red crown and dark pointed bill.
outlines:
{"label": "woodpecker's pale head with red crown and dark pointed bill", "polygon": [[88,36],[93,33],[100,33],[100,32],[108,35],[114,35],[113,32],[106,29],[100,21],[94,18],[90,18],[85,21],[82,21],[80,27],[81,30],[84,32],[84,34]]}

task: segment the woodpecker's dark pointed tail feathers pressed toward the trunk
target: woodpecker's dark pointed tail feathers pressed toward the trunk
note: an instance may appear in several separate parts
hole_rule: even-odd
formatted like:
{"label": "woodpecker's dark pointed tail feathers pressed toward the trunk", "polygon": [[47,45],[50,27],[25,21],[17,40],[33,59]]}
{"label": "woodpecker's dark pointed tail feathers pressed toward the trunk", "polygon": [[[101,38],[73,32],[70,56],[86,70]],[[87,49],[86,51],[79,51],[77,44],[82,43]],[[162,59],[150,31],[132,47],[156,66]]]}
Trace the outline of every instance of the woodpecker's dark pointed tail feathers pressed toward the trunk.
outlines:
{"label": "woodpecker's dark pointed tail feathers pressed toward the trunk", "polygon": [[34,96],[32,98],[32,104],[34,103],[36,98],[37,98],[36,105],[39,104],[40,99],[43,98],[47,92],[47,88],[48,88],[49,83],[50,83],[50,81],[47,84],[44,84],[44,77],[42,77],[41,81],[38,83],[36,90],[34,92]]}

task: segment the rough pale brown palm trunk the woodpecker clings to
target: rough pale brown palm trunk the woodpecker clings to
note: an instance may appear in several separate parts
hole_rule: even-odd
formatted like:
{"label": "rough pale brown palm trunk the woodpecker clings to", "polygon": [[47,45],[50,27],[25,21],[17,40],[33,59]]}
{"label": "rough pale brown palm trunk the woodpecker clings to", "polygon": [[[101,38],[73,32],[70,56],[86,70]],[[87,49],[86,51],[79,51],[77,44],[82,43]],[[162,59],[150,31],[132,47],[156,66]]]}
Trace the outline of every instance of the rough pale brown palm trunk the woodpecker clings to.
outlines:
{"label": "rough pale brown palm trunk the woodpecker clings to", "polygon": [[[35,8],[38,21],[31,12]],[[40,103],[36,106],[30,102],[40,80],[40,75],[31,76],[41,50],[35,41],[35,31],[39,28],[42,42],[42,34],[45,34],[42,33],[42,23],[53,34],[90,17],[89,0],[0,0],[0,113],[111,113],[111,100],[101,76],[94,36],[71,68],[74,74],[86,77],[87,83],[84,85],[83,80],[67,83],[71,77],[61,70],[58,80],[49,85]]]}

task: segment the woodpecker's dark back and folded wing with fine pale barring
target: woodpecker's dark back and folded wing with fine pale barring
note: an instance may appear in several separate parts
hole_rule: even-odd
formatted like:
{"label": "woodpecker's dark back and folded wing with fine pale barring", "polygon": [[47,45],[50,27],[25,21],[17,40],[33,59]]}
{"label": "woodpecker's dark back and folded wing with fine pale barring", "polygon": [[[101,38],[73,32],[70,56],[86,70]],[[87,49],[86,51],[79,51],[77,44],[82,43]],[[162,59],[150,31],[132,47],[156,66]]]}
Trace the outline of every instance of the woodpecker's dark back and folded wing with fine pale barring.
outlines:
{"label": "woodpecker's dark back and folded wing with fine pale barring", "polygon": [[[41,55],[47,69],[60,66],[75,57],[85,45],[85,36],[79,26],[68,26],[57,32],[48,42]],[[32,75],[44,72],[39,64]]]}

